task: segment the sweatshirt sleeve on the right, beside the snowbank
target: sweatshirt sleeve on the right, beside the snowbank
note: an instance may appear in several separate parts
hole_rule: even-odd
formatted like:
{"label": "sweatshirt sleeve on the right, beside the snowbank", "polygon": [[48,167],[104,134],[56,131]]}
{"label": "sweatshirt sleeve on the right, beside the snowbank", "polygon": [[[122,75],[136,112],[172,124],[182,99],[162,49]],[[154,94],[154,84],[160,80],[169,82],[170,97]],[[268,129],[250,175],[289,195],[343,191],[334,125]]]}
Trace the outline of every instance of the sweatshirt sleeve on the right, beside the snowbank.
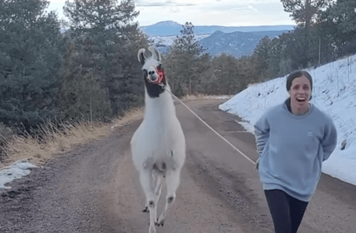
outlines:
{"label": "sweatshirt sleeve on the right, beside the snowbank", "polygon": [[333,120],[329,118],[328,123],[325,125],[324,137],[321,141],[322,150],[324,151],[324,157],[322,158],[323,162],[330,157],[331,153],[333,153],[337,140],[338,133],[336,131],[336,127],[333,123]]}

